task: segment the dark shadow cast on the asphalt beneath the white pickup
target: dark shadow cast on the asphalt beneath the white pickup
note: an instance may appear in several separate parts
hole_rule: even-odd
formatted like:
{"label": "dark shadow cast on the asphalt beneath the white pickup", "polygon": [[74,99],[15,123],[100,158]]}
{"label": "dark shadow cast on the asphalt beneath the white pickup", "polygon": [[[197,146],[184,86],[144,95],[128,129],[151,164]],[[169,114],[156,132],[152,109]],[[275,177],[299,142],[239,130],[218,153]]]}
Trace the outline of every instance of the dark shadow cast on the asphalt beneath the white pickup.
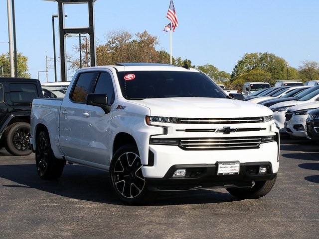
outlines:
{"label": "dark shadow cast on the asphalt beneath the white pickup", "polygon": [[[123,205],[112,191],[108,173],[86,166],[67,164],[59,179],[49,181],[38,176],[35,164],[0,165],[0,177],[15,182],[3,183],[3,187],[22,188],[22,190],[35,188],[73,199]],[[148,206],[221,203],[237,200],[227,192],[204,189],[156,192],[153,195],[156,197],[153,197]]]}

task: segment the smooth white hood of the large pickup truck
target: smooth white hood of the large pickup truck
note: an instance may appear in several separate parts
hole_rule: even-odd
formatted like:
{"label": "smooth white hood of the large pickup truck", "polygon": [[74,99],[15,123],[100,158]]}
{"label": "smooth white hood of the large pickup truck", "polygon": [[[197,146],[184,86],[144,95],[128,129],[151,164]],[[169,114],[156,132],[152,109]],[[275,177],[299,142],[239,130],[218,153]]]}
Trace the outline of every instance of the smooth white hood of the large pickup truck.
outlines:
{"label": "smooth white hood of the large pickup truck", "polygon": [[176,97],[152,98],[134,101],[150,109],[153,116],[166,117],[260,117],[272,115],[273,112],[266,106],[241,100],[203,98],[203,97]]}

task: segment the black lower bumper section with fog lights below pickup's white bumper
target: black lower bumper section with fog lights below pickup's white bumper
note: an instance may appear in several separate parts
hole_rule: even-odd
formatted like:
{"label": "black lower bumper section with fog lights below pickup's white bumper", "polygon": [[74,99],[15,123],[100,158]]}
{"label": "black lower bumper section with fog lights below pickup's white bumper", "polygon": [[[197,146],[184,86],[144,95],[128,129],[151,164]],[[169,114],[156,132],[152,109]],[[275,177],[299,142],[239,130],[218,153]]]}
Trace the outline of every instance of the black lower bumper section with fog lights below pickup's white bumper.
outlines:
{"label": "black lower bumper section with fog lights below pickup's white bumper", "polygon": [[[217,164],[217,163],[216,163]],[[259,173],[259,166],[265,166],[267,173]],[[172,177],[176,169],[185,168],[185,177]],[[270,162],[249,162],[240,164],[237,175],[217,175],[216,165],[193,164],[173,165],[163,178],[146,178],[151,191],[195,190],[200,188],[251,187],[252,181],[275,178]]]}

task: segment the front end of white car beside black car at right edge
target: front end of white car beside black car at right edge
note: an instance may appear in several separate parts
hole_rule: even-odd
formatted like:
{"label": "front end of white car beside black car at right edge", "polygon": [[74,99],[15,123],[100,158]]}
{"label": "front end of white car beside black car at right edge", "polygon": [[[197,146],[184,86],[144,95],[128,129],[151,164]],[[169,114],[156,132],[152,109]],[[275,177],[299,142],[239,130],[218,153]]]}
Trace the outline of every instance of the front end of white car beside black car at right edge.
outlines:
{"label": "front end of white car beside black car at right edge", "polygon": [[306,119],[309,112],[319,108],[319,101],[295,105],[287,110],[285,116],[285,128],[287,133],[292,137],[307,137],[305,132]]}

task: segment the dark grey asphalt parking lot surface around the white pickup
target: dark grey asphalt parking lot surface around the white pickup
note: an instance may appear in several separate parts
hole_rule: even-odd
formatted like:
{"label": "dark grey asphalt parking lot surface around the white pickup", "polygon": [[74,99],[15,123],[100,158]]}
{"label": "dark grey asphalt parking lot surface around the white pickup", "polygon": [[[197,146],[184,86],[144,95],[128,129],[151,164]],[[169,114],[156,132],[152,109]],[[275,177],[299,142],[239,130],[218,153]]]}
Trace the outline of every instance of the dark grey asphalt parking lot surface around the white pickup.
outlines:
{"label": "dark grey asphalt parking lot surface around the white pickup", "polygon": [[45,181],[34,154],[0,150],[1,239],[318,239],[319,145],[282,137],[277,182],[260,199],[225,189],[155,196],[124,205],[104,171],[67,164],[58,180]]}

